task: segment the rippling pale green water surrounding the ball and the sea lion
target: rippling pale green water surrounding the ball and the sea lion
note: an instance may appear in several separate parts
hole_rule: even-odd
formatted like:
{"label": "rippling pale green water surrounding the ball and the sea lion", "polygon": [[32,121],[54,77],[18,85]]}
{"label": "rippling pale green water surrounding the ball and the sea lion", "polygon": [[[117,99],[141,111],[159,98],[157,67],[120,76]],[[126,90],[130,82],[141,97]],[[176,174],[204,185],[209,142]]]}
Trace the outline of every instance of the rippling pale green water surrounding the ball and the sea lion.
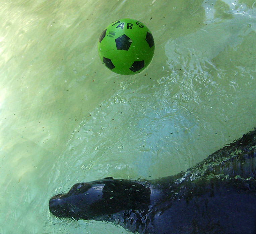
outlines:
{"label": "rippling pale green water surrounding the ball and the sea lion", "polygon": [[[0,233],[129,233],[58,220],[48,200],[77,182],[175,174],[252,130],[255,17],[254,0],[1,0]],[[135,76],[98,56],[119,18],[154,36]]]}

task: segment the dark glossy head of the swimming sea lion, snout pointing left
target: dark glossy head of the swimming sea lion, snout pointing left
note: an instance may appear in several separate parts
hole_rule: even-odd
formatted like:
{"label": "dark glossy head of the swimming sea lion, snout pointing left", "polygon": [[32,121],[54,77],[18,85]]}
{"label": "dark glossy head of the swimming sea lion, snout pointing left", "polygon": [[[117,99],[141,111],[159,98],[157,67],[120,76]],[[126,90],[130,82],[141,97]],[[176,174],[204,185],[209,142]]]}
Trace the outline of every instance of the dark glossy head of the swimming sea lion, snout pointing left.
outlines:
{"label": "dark glossy head of the swimming sea lion, snout pointing left", "polygon": [[150,188],[130,180],[105,178],[73,185],[68,193],[49,201],[50,212],[59,218],[98,219],[150,204]]}

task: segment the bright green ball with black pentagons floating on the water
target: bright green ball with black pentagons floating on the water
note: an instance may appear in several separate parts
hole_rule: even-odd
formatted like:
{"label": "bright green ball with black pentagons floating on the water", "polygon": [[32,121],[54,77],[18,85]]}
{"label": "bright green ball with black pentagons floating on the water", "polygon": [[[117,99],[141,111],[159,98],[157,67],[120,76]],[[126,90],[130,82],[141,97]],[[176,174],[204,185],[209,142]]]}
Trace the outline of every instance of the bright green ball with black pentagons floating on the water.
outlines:
{"label": "bright green ball with black pentagons floating on the water", "polygon": [[102,63],[121,75],[144,70],[154,55],[154,39],[149,29],[134,19],[119,19],[103,30],[98,52]]}

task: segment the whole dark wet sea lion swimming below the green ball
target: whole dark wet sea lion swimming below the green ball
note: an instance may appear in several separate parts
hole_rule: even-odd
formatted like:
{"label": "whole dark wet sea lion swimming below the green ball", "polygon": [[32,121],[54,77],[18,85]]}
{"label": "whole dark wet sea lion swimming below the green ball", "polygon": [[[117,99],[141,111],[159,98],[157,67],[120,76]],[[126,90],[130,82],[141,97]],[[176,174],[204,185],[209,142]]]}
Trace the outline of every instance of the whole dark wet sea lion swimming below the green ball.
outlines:
{"label": "whole dark wet sea lion swimming below the green ball", "polygon": [[49,201],[60,218],[109,221],[138,233],[256,233],[256,129],[177,175],[108,177]]}

